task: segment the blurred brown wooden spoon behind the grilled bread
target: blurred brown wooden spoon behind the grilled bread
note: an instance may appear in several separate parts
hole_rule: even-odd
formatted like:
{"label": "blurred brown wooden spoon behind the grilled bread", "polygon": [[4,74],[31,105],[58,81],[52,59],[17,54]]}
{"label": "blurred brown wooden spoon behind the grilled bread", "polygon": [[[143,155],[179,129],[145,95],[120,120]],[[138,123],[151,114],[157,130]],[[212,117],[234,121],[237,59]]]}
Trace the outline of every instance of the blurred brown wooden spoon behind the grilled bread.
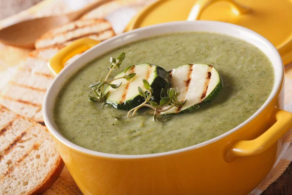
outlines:
{"label": "blurred brown wooden spoon behind the grilled bread", "polygon": [[25,20],[0,30],[0,42],[27,49],[35,48],[35,41],[45,32],[76,20],[95,7],[110,0],[97,0],[84,8],[66,15]]}

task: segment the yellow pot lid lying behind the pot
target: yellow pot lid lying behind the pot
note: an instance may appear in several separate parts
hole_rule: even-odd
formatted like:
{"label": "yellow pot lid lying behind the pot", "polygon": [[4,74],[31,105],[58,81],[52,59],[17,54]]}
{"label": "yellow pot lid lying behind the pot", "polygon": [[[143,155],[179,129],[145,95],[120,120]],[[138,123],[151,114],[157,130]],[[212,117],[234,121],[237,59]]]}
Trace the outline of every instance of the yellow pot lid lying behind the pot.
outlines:
{"label": "yellow pot lid lying behind the pot", "polygon": [[158,0],[126,31],[181,20],[216,20],[249,28],[270,40],[284,64],[292,61],[292,0]]}

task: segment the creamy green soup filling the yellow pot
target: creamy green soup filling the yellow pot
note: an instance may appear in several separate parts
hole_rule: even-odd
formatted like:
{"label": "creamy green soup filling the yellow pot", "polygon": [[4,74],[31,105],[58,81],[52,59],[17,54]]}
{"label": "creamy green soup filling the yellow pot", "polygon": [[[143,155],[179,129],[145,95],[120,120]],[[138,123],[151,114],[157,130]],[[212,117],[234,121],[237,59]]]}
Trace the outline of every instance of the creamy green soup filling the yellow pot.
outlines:
{"label": "creamy green soup filling the yellow pot", "polygon": [[[110,57],[122,52],[126,59],[112,77],[128,65],[144,62],[167,71],[185,63],[207,63],[219,71],[224,87],[210,104],[166,122],[153,121],[150,115],[127,118],[127,111],[101,108],[88,100],[93,95],[88,86],[105,78]],[[80,69],[56,98],[54,118],[63,136],[84,148],[123,155],[161,153],[201,143],[236,127],[260,108],[273,84],[271,62],[245,41],[201,32],[169,34],[119,47]]]}

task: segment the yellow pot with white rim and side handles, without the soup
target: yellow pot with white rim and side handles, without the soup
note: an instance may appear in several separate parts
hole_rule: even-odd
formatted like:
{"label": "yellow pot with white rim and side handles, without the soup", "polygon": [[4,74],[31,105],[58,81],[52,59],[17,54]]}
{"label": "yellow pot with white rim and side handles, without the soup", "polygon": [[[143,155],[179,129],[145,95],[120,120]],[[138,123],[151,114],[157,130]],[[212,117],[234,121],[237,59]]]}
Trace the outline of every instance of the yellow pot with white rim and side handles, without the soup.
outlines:
{"label": "yellow pot with white rim and side handles, without the soup", "polygon": [[[121,45],[187,31],[228,34],[254,44],[268,56],[275,71],[274,87],[252,117],[219,137],[159,154],[105,154],[77,146],[62,136],[54,122],[53,109],[62,83],[70,76],[87,62]],[[292,114],[281,110],[284,68],[279,53],[268,40],[233,24],[179,21],[140,28],[98,43],[92,39],[77,40],[50,60],[49,67],[57,77],[44,102],[45,123],[85,195],[243,195],[269,173],[277,158],[280,138],[292,126]],[[63,69],[65,61],[80,52],[84,53]]]}

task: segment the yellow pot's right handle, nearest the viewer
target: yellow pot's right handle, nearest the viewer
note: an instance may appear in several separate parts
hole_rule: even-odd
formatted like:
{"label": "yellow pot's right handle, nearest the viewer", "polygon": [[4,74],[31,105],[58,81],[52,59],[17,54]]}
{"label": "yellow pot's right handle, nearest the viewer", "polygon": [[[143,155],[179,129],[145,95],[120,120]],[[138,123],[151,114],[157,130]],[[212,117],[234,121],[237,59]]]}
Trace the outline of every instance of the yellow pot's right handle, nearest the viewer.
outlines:
{"label": "yellow pot's right handle, nearest the viewer", "polygon": [[[232,156],[258,155],[271,147],[292,127],[292,113],[278,110],[276,122],[261,136],[253,140],[243,140],[235,143],[229,151]],[[229,156],[229,155],[228,155]]]}

